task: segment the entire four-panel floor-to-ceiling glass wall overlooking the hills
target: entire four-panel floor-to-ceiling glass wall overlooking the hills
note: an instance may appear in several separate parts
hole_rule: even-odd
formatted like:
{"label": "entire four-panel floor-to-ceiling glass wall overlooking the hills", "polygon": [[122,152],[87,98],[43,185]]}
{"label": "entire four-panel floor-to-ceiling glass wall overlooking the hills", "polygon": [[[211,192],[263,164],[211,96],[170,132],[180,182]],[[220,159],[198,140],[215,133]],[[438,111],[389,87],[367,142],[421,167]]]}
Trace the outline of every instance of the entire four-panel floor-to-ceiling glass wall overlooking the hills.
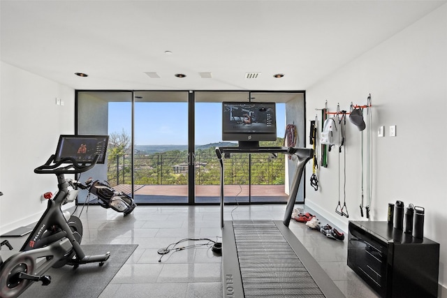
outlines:
{"label": "entire four-panel floor-to-ceiling glass wall overlooking the hills", "polygon": [[[261,146],[282,146],[287,124],[305,131],[302,92],[77,91],[77,133],[110,135],[108,163],[94,168],[94,178],[138,204],[218,203],[215,147],[237,146],[222,142],[222,102],[249,100],[276,103],[277,141]],[[296,145],[305,145],[304,134]],[[294,162],[286,156],[232,154],[223,162],[225,202],[288,199]]]}

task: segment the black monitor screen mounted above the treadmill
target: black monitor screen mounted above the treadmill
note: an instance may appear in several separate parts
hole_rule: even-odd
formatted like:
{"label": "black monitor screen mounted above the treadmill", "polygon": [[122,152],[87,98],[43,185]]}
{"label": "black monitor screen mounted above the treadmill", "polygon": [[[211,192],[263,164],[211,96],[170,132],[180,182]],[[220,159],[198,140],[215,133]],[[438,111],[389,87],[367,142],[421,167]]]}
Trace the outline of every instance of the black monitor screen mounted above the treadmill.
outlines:
{"label": "black monitor screen mounted above the treadmill", "polygon": [[277,140],[275,103],[223,102],[222,140],[237,141],[240,147]]}

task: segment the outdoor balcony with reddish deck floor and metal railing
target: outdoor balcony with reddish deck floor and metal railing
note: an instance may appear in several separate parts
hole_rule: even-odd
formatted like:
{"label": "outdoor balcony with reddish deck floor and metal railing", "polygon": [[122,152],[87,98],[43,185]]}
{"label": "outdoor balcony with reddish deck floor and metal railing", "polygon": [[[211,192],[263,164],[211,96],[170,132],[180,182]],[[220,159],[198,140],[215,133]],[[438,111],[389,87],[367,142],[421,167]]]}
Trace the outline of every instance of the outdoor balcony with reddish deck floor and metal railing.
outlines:
{"label": "outdoor balcony with reddish deck floor and metal railing", "polygon": [[[134,198],[140,204],[188,202],[186,151],[134,156]],[[235,154],[223,160],[225,202],[286,202],[284,156]],[[251,163],[251,167],[249,166]],[[196,152],[197,203],[220,201],[220,165],[214,150]],[[249,172],[251,170],[251,172]],[[131,156],[108,160],[108,181],[131,193]],[[251,187],[250,187],[251,186]],[[249,200],[251,198],[251,200]]]}

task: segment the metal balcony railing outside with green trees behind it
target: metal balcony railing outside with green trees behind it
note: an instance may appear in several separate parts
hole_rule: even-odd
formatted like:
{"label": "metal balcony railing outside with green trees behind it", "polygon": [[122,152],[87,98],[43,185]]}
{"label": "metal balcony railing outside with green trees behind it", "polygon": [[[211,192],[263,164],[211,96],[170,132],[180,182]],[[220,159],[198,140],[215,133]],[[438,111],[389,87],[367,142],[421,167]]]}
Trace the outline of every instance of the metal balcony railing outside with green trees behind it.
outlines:
{"label": "metal balcony railing outside with green trees behind it", "polygon": [[[225,184],[283,185],[284,156],[270,154],[233,154],[223,159]],[[249,165],[251,163],[251,166]],[[186,185],[188,163],[186,151],[134,156],[134,184]],[[196,185],[219,185],[220,165],[210,152],[196,153]],[[251,171],[251,175],[249,173]],[[251,179],[251,181],[249,181]],[[131,184],[131,156],[121,155],[108,160],[108,181],[112,186]]]}

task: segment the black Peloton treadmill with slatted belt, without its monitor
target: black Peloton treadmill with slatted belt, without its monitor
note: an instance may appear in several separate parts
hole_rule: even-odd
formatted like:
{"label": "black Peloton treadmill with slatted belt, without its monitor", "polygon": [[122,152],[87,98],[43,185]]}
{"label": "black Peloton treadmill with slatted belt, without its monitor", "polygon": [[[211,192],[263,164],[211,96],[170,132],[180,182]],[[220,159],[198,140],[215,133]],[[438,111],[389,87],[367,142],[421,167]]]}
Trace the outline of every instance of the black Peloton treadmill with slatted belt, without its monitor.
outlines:
{"label": "black Peloton treadmill with slatted belt, without its monitor", "polygon": [[[297,157],[282,221],[223,220],[223,159],[230,154],[288,154]],[[313,149],[216,147],[221,165],[220,224],[224,298],[344,297],[337,285],[289,230],[295,198]]]}

